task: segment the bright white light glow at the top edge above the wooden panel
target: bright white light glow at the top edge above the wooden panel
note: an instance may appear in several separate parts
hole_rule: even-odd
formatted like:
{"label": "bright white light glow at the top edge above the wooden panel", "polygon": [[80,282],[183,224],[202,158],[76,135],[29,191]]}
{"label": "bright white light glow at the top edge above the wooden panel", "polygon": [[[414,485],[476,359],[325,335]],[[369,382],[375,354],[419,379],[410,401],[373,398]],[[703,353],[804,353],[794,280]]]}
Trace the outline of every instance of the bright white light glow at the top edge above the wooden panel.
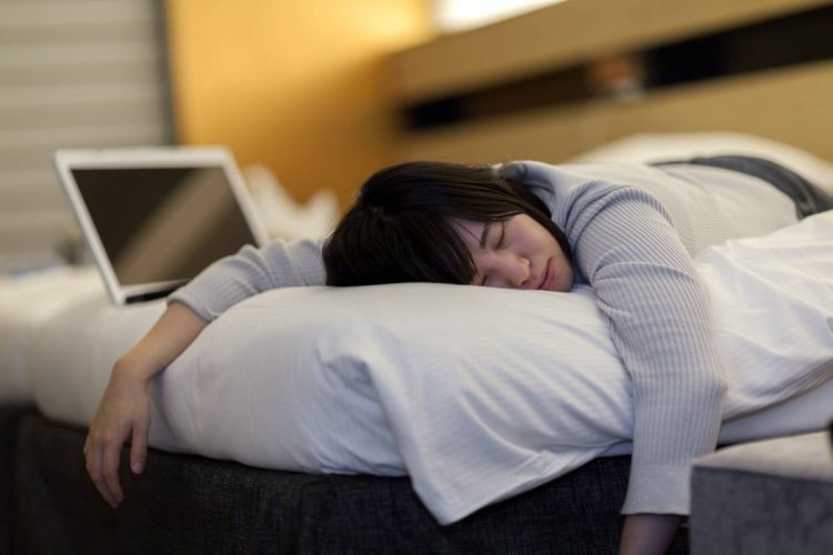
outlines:
{"label": "bright white light glow at the top edge above the wooden panel", "polygon": [[440,32],[455,32],[520,16],[564,0],[432,0]]}

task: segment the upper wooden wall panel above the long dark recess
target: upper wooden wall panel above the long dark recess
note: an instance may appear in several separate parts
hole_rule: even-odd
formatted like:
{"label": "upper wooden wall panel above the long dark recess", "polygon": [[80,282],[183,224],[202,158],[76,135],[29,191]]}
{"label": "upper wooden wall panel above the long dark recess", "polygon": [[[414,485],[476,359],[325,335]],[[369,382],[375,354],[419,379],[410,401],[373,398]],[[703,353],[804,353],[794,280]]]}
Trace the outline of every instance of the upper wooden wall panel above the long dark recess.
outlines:
{"label": "upper wooden wall panel above the long dark recess", "polygon": [[395,57],[405,103],[589,61],[611,52],[830,4],[830,0],[569,0],[450,34]]}

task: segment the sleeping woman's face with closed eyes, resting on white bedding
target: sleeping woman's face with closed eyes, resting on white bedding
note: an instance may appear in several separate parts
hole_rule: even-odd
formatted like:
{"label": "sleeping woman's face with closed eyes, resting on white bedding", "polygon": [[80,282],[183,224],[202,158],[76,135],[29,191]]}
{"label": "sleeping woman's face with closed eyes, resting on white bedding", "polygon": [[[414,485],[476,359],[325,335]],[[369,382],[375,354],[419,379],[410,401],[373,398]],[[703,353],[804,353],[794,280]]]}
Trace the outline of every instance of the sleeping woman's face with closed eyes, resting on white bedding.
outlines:
{"label": "sleeping woman's face with closed eyes, resting on white bedding", "polygon": [[503,222],[453,222],[474,260],[474,285],[570,291],[573,266],[552,234],[526,214]]}

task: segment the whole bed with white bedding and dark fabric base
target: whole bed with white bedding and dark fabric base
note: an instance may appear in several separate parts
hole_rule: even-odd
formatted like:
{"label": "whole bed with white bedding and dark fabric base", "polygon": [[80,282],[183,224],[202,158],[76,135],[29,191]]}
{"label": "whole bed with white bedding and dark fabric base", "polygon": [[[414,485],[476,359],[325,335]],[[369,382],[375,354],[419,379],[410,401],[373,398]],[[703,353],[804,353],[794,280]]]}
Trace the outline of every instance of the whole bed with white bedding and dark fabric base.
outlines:
{"label": "whole bed with white bedding and dark fabric base", "polygon": [[[679,153],[670,149],[671,139],[661,139],[663,155]],[[686,144],[686,138],[676,139]],[[688,137],[685,148],[707,139]],[[646,152],[642,149],[650,142],[640,137],[588,155],[629,159]],[[794,153],[770,151],[779,157]],[[812,157],[791,162],[809,161],[819,165],[805,170],[830,171]],[[779,309],[782,312],[772,309],[772,319],[799,324],[786,326],[786,334],[767,325],[757,326],[763,335],[750,334],[757,316],[726,316],[726,336],[746,337],[745,343],[730,345],[733,356],[745,361],[745,366],[736,366],[754,372],[739,374],[740,385],[724,414],[724,444],[821,430],[833,416],[833,334],[827,323],[833,297],[824,289],[833,286],[827,283],[833,269],[819,269],[819,279],[807,284],[802,281],[804,270],[790,278],[779,265],[784,253],[792,252],[789,249],[812,249],[813,236],[821,238],[815,249],[830,252],[830,239],[825,243],[824,238],[833,238],[833,214],[822,215],[800,224],[805,231],[815,229],[812,233],[786,233],[763,245],[741,242],[730,254],[700,262],[704,275],[712,272],[712,282],[735,283],[715,293],[723,296],[714,303],[727,305],[732,299],[739,314],[777,295],[766,285],[771,282],[799,291],[803,300],[791,299]],[[781,252],[782,246],[789,249]],[[726,266],[725,260],[732,263]],[[764,285],[750,286],[721,273],[739,264],[745,274],[762,276]],[[765,279],[766,272],[776,273],[777,280]],[[9,552],[544,553],[552,546],[559,553],[615,551],[629,472],[628,379],[605,344],[606,331],[586,292],[552,301],[550,295],[526,294],[522,300],[512,295],[518,292],[505,292],[509,295],[496,295],[496,306],[489,304],[494,291],[432,284],[359,287],[339,294],[341,301],[327,287],[259,295],[212,324],[154,384],[155,448],[144,476],[123,474],[128,501],[112,511],[83,468],[84,426],[112,361],[144,333],[163,304],[114,307],[89,268],[7,279],[0,291],[0,471],[7,484],[0,502],[8,508],[1,526]],[[489,302],[478,296],[483,293],[491,293]],[[445,329],[442,321],[455,320],[442,316],[442,307],[452,304],[449,294],[454,302],[461,294],[475,295],[466,305],[514,314],[501,321],[502,329],[532,322],[548,339],[523,333],[512,339],[511,349],[494,341],[478,349],[472,341],[488,333],[488,313],[466,311],[465,333],[460,325]],[[739,304],[743,295],[745,304]],[[541,307],[549,302],[561,309],[561,303],[572,303],[566,311],[544,311],[568,313],[569,319],[541,320]],[[368,306],[373,306],[370,314],[362,312]],[[278,307],[280,319],[274,317]],[[414,317],[399,317],[403,310]],[[441,313],[441,322],[432,312]],[[556,339],[552,326],[562,330]],[[253,334],[255,329],[259,334]],[[257,356],[241,346],[251,342],[261,345]],[[762,342],[779,345],[780,362],[773,363],[766,353],[754,359],[749,345]],[[530,356],[540,343],[554,351]],[[519,349],[524,360],[516,356]],[[546,362],[555,359],[554,352],[561,354],[559,370]],[[793,364],[799,359],[801,366]],[[291,371],[275,372],[275,360]],[[548,380],[541,381],[543,365],[546,373],[556,371],[574,380],[560,380],[552,389]],[[389,374],[391,367],[400,372]],[[483,367],[490,369],[488,375]],[[762,369],[780,380],[766,381],[763,392],[761,382],[750,380]],[[480,404],[466,405],[472,398]],[[494,414],[492,407],[519,398],[532,411]],[[552,411],[553,400],[563,411],[554,431],[551,421],[544,428],[535,427],[541,415]],[[428,420],[415,418],[420,412],[429,413]],[[606,416],[600,418],[600,413]],[[424,422],[423,430],[413,427],[414,422]],[[508,427],[510,423],[518,428]],[[520,450],[525,457],[530,445],[516,442],[502,451],[519,430],[521,435],[555,434],[546,440],[543,456],[535,455],[539,464],[532,472],[521,474],[514,472],[515,456]],[[454,445],[479,434],[485,438],[472,440],[464,448]],[[434,456],[438,452],[445,455]],[[443,461],[441,468],[432,466],[438,460]],[[505,461],[505,466],[475,468],[472,461]],[[485,493],[478,486],[483,472],[492,473]],[[672,553],[685,553],[685,535],[683,528]]]}

